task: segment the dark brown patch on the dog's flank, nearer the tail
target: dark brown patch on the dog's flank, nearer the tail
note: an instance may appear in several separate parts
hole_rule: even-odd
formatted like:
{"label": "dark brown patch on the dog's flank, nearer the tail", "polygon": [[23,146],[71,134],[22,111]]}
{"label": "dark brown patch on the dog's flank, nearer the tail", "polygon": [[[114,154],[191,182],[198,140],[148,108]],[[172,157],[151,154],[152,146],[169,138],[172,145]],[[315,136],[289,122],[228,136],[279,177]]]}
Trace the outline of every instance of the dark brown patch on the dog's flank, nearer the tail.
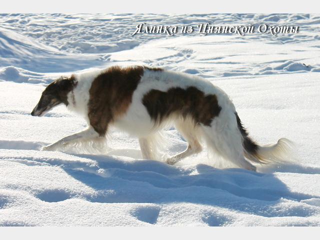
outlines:
{"label": "dark brown patch on the dog's flank, nearer the tail", "polygon": [[216,95],[205,95],[194,86],[172,87],[167,91],[152,89],[143,96],[142,103],[155,123],[178,113],[182,117],[191,116],[195,124],[209,126],[221,110]]}

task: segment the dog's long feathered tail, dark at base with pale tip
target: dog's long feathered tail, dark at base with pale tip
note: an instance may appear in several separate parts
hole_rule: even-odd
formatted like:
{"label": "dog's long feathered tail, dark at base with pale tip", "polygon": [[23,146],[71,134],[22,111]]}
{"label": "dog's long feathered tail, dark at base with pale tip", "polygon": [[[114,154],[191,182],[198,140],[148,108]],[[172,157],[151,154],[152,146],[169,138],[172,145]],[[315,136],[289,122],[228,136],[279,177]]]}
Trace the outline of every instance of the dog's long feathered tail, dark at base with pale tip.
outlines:
{"label": "dog's long feathered tail, dark at base with pale tip", "polygon": [[294,144],[286,138],[280,138],[277,143],[259,146],[248,135],[238,114],[235,112],[238,129],[242,135],[244,156],[253,162],[266,164],[287,162],[291,159]]}

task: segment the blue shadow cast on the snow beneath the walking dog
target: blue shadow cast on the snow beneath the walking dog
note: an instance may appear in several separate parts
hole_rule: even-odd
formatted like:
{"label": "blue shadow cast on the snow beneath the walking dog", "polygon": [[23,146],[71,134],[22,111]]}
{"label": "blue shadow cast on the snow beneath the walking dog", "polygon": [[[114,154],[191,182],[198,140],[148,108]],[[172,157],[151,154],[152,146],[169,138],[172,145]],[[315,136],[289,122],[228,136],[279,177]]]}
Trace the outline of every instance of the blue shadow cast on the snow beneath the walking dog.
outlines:
{"label": "blue shadow cast on the snow beneath the walking dog", "polygon": [[[155,160],[124,161],[106,155],[74,155],[97,163],[97,172],[64,169],[96,190],[97,195],[87,197],[92,202],[184,202],[255,213],[271,208],[284,198],[300,201],[319,197],[291,191],[274,173],[217,169],[205,164],[176,167]],[[320,169],[313,170],[320,172]],[[263,212],[267,216],[267,211]]]}

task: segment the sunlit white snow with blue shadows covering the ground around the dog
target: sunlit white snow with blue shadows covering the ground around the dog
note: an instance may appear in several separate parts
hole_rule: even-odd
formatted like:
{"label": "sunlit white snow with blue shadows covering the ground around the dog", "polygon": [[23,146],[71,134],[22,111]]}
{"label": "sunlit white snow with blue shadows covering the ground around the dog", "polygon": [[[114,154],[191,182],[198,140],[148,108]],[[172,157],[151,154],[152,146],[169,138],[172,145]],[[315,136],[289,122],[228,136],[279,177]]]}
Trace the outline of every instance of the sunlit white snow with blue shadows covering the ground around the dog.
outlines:
{"label": "sunlit white snow with blue shadows covering the ground around the dog", "polygon": [[[297,34],[130,36],[136,24],[296,24]],[[318,29],[310,14],[3,14],[0,16],[0,225],[320,225]],[[287,137],[290,163],[219,169],[206,151],[174,166],[142,160],[111,129],[106,152],[40,151],[85,127],[59,106],[30,112],[61,74],[146,64],[197,74],[233,100],[260,144]],[[165,131],[173,155],[186,147]]]}

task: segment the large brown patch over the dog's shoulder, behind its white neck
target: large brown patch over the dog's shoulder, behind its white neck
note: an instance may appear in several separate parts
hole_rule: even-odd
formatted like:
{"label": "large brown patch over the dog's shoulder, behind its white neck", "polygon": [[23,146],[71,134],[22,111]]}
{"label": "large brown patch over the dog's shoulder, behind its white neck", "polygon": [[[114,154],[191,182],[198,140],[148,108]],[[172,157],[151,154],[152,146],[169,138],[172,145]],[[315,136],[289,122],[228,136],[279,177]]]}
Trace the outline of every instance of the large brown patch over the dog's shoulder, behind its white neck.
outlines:
{"label": "large brown patch over the dog's shoulder, behind its white neck", "polygon": [[143,69],[112,66],[94,78],[89,90],[88,117],[99,135],[104,135],[108,124],[125,113]]}

